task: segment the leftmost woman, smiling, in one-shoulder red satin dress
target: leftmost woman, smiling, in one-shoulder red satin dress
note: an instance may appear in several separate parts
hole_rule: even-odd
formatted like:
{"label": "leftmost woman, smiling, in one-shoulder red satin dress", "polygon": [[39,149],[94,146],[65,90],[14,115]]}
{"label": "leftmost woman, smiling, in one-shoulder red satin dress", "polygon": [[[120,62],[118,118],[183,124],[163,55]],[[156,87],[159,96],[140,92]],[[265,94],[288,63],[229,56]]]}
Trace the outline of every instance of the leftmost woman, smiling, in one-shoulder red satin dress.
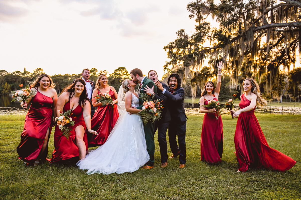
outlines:
{"label": "leftmost woman, smiling, in one-shoulder red satin dress", "polygon": [[[17,153],[25,164],[36,166],[45,161],[48,154],[48,140],[56,117],[57,93],[47,74],[41,74],[31,87],[31,91],[36,93],[27,99],[31,106],[25,117]],[[21,102],[22,108],[27,108],[27,103]]]}

